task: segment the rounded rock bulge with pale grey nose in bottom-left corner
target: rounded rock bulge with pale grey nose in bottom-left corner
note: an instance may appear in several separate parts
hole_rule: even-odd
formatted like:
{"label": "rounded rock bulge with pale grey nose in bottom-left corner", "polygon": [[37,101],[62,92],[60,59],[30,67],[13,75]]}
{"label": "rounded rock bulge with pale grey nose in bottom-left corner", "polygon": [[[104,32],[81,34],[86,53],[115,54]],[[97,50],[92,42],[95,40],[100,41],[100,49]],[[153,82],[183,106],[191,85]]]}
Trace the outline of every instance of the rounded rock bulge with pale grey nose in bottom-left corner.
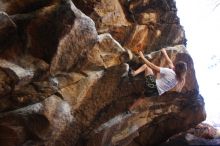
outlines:
{"label": "rounded rock bulge with pale grey nose in bottom-left corner", "polygon": [[[0,119],[0,143],[10,146],[24,144],[28,140],[35,141],[36,138],[50,139],[50,144],[54,145],[54,141],[74,121],[70,105],[57,96],[13,112],[2,113]],[[14,140],[8,140],[7,137]]]}

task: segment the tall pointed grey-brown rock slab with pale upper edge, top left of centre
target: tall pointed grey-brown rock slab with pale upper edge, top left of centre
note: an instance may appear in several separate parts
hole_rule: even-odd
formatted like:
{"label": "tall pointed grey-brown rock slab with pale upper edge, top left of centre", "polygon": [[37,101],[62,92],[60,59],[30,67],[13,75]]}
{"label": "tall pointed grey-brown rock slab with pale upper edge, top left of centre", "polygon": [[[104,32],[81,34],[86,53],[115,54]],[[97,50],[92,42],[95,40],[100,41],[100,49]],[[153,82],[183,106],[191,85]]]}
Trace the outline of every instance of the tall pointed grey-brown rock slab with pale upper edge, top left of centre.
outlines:
{"label": "tall pointed grey-brown rock slab with pale upper edge, top left of centre", "polygon": [[98,35],[94,22],[73,4],[70,6],[69,13],[75,16],[75,21],[69,24],[69,33],[59,41],[56,55],[51,62],[51,73],[70,70],[97,41]]}

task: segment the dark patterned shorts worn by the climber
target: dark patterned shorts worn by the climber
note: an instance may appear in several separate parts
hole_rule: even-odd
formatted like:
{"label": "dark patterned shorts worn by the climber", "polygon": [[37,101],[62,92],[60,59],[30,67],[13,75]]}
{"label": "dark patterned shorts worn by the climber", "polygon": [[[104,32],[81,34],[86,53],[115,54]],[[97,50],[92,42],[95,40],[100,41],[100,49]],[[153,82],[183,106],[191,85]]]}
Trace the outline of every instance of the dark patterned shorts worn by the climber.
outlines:
{"label": "dark patterned shorts worn by the climber", "polygon": [[158,90],[156,85],[156,78],[154,75],[145,76],[145,90],[144,95],[147,97],[158,96]]}

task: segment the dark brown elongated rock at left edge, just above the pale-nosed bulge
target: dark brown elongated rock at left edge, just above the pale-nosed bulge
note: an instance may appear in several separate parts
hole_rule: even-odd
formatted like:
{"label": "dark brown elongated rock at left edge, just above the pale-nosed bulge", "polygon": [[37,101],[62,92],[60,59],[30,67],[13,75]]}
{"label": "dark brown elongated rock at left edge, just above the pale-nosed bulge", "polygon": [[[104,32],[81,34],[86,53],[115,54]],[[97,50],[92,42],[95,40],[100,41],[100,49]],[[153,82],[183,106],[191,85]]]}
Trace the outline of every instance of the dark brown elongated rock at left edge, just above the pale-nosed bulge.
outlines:
{"label": "dark brown elongated rock at left edge, just above the pale-nosed bulge", "polygon": [[33,82],[19,88],[12,88],[8,92],[3,92],[5,98],[0,99],[0,112],[16,110],[30,104],[42,102],[49,96],[56,94],[56,92],[57,89],[47,81]]}

